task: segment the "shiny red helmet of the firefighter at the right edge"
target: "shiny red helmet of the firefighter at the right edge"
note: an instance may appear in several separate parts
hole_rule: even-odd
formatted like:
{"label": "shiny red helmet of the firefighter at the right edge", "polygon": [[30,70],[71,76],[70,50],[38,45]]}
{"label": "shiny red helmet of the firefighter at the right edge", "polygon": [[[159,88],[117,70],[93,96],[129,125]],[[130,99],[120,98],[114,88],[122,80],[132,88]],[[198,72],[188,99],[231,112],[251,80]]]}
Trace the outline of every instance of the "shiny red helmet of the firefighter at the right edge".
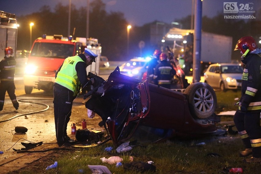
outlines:
{"label": "shiny red helmet of the firefighter at the right edge", "polygon": [[245,36],[240,38],[240,40],[237,41],[235,50],[241,50],[244,54],[247,49],[250,51],[253,51],[257,48],[257,45],[255,43],[255,39],[251,36]]}

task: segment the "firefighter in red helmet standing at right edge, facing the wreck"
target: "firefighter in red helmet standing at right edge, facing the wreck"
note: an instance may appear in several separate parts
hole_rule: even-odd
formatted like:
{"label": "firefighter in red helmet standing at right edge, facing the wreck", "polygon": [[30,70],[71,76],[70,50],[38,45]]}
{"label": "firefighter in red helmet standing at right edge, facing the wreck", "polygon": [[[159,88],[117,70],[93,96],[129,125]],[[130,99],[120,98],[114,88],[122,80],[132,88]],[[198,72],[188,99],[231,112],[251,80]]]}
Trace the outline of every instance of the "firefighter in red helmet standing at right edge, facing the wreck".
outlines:
{"label": "firefighter in red helmet standing at right edge, facing the wreck", "polygon": [[245,64],[239,108],[234,115],[234,123],[245,146],[240,156],[253,154],[244,161],[261,162],[261,50],[250,36],[238,40],[235,50],[241,51],[241,62]]}

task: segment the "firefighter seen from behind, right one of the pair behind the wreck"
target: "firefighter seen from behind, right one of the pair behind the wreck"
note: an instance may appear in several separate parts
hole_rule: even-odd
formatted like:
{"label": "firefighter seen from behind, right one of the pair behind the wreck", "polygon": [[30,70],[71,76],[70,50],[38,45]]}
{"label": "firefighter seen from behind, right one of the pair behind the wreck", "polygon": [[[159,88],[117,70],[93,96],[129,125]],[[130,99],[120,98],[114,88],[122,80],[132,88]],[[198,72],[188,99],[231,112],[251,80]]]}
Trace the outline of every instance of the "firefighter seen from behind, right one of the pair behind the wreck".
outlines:
{"label": "firefighter seen from behind, right one of the pair behind the wreck", "polygon": [[161,53],[160,63],[156,66],[154,72],[154,84],[170,89],[171,80],[176,74],[173,66],[168,62],[167,55]]}

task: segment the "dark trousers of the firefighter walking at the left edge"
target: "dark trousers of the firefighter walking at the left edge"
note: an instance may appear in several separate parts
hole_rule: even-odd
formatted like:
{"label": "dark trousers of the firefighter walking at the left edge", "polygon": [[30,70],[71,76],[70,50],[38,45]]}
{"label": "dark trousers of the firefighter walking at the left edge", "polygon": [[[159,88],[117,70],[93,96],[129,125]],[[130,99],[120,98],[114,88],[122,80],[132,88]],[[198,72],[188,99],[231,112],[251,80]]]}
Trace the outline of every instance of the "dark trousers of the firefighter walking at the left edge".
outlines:
{"label": "dark trousers of the firefighter walking at the left edge", "polygon": [[19,108],[19,103],[17,101],[16,95],[15,95],[15,85],[14,81],[4,81],[1,80],[0,83],[0,111],[4,107],[5,103],[5,98],[6,98],[6,91],[13,103],[13,107],[18,109]]}

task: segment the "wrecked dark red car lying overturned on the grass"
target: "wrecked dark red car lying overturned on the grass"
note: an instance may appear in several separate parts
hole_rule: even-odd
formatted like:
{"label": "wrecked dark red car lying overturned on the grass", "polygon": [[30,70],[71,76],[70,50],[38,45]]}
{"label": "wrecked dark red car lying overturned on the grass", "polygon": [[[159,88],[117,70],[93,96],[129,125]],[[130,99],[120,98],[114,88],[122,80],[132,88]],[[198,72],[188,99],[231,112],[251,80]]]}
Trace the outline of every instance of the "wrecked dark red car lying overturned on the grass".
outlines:
{"label": "wrecked dark red car lying overturned on the grass", "polygon": [[91,96],[85,107],[100,115],[117,145],[130,139],[158,142],[225,133],[216,128],[217,97],[206,83],[193,83],[182,93],[122,75],[119,67],[107,81],[92,73],[88,77],[95,82],[84,95]]}

